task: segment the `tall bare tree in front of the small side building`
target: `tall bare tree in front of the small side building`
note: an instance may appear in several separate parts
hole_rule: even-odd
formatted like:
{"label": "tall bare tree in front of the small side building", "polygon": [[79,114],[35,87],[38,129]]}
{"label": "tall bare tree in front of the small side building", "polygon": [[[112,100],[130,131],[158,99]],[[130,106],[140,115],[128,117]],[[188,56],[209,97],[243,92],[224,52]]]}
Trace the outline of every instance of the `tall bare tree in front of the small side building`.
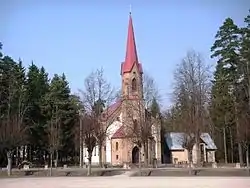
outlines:
{"label": "tall bare tree in front of the small side building", "polygon": [[210,72],[199,53],[189,51],[175,72],[174,101],[178,110],[178,124],[184,133],[184,147],[191,151],[196,144],[197,162],[200,162],[200,134],[207,124],[206,111],[210,93]]}

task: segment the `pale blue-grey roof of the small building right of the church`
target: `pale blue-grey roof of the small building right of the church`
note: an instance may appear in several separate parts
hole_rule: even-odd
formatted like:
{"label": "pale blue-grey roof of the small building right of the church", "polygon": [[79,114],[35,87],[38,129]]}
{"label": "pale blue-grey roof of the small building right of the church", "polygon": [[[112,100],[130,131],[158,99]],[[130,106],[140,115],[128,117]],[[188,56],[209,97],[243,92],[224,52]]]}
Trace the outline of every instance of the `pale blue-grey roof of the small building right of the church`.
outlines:
{"label": "pale blue-grey roof of the small building right of the church", "polygon": [[[182,132],[170,132],[164,135],[166,144],[170,150],[182,150],[184,144],[184,134]],[[208,133],[201,133],[200,138],[205,142],[206,148],[216,150],[217,147]]]}

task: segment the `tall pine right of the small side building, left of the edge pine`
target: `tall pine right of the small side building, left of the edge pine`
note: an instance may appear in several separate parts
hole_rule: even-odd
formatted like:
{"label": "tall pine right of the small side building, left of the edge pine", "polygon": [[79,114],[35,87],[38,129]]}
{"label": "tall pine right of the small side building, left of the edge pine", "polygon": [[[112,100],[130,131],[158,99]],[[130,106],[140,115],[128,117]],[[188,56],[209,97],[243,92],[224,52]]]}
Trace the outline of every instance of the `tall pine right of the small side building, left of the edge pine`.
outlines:
{"label": "tall pine right of the small side building, left of the edge pine", "polygon": [[[239,64],[240,64],[240,30],[237,25],[234,24],[231,18],[227,18],[223,25],[219,28],[215,36],[215,42],[211,48],[212,58],[217,58],[217,67],[214,77],[213,87],[213,105],[212,113],[218,113],[216,116],[224,118],[224,126],[228,123],[228,119],[233,119],[236,125],[237,142],[239,150],[240,163],[243,163],[242,150],[240,144],[239,135],[239,121],[238,121],[238,81],[239,75]],[[233,97],[233,106],[230,108],[231,97]],[[229,105],[229,106],[228,106]],[[230,110],[228,110],[230,108]],[[221,109],[224,109],[220,112]],[[226,112],[226,111],[227,112]],[[231,113],[233,112],[233,113]],[[227,117],[229,114],[229,118]],[[215,117],[215,116],[214,116]],[[221,120],[215,121],[214,123],[221,127]],[[225,140],[225,139],[224,139]],[[226,155],[226,154],[225,154]]]}

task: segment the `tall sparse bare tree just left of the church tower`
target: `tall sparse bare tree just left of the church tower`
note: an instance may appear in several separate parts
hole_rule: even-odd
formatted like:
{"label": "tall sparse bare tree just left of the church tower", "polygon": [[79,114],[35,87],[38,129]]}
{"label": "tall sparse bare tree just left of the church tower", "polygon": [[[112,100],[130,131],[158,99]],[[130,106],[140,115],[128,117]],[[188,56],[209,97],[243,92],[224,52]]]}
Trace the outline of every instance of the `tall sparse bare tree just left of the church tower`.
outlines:
{"label": "tall sparse bare tree just left of the church tower", "polygon": [[[114,101],[114,88],[104,77],[103,69],[98,69],[92,72],[85,79],[85,90],[81,91],[83,95],[84,109],[91,114],[96,121],[95,137],[97,138],[97,145],[99,150],[99,165],[102,167],[102,147],[107,136],[107,129],[110,125],[109,108],[108,106]],[[102,113],[105,110],[105,117]]]}

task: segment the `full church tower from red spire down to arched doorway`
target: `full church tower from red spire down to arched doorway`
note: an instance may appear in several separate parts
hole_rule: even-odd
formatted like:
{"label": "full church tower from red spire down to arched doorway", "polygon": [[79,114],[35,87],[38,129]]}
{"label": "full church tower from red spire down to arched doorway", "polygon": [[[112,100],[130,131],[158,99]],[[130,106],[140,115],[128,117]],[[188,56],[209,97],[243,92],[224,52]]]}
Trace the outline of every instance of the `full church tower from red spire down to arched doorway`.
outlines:
{"label": "full church tower from red spire down to arched doorway", "polygon": [[[121,78],[122,78],[122,120],[125,135],[136,136],[136,127],[141,125],[144,120],[145,108],[143,101],[143,82],[142,82],[142,65],[139,63],[135,35],[133,28],[133,21],[131,12],[129,14],[128,35],[125,61],[121,64]],[[140,127],[140,126],[139,126]],[[140,131],[140,129],[139,129]],[[139,135],[138,135],[139,136]],[[138,147],[128,138],[125,144],[124,161],[138,162]],[[136,152],[135,152],[136,151]],[[135,160],[135,158],[137,160]]]}

